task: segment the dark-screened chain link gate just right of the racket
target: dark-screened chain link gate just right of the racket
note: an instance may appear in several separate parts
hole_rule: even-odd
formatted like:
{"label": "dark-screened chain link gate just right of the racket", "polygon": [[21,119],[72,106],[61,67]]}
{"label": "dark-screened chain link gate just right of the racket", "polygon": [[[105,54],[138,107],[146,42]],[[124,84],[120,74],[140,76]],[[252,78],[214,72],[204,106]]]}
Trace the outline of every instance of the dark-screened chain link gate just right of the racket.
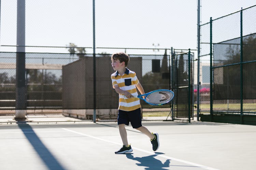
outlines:
{"label": "dark-screened chain link gate just right of the racket", "polygon": [[172,102],[172,120],[194,119],[194,54],[175,52],[172,55],[172,90],[175,99]]}

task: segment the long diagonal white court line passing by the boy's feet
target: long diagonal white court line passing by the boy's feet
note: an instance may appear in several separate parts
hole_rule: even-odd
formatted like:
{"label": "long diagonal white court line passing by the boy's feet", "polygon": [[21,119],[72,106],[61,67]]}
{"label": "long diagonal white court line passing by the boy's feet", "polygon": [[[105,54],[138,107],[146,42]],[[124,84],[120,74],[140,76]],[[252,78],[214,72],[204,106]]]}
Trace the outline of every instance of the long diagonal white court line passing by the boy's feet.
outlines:
{"label": "long diagonal white court line passing by the boy's feet", "polygon": [[[97,140],[102,140],[102,141],[105,141],[105,142],[114,143],[116,145],[121,145],[122,146],[122,144],[117,143],[117,142],[113,142],[113,141],[110,141],[110,140],[102,139],[102,138],[99,138],[99,137],[87,135],[87,134],[76,132],[76,131],[72,131],[72,130],[69,130],[69,129],[66,129],[66,128],[61,128],[61,129],[69,131],[69,132],[73,132],[73,133],[76,133],[76,134],[79,134],[79,135],[87,136],[87,137],[90,137],[90,138],[94,138],[94,139],[97,139]],[[170,156],[165,156],[165,155],[162,155],[162,154],[146,151],[146,150],[139,149],[139,148],[132,147],[132,149],[135,149],[135,150],[138,150],[138,151],[141,151],[141,152],[145,152],[145,153],[149,153],[149,154],[152,154],[152,155],[157,155],[157,156],[160,156],[160,157],[163,157],[163,158],[167,158],[167,159],[170,159],[170,160],[176,160],[178,162],[182,162],[182,163],[189,164],[189,165],[192,165],[192,166],[196,166],[196,167],[199,167],[199,168],[204,168],[204,169],[209,169],[209,170],[218,170],[218,169],[211,168],[211,167],[208,167],[208,166],[196,164],[196,163],[193,163],[193,162],[189,162],[189,161],[182,160],[182,159],[177,159],[177,158],[170,157]]]}

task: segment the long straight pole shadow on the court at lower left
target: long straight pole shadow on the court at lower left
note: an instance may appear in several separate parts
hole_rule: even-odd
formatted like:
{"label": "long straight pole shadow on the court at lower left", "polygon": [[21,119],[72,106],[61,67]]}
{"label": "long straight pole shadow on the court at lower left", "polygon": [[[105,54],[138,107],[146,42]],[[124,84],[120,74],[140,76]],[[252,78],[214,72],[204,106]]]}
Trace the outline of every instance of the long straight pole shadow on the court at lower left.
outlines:
{"label": "long straight pole shadow on the court at lower left", "polygon": [[53,154],[45,147],[43,142],[39,139],[37,134],[35,134],[34,130],[29,124],[18,124],[18,126],[48,169],[65,170],[65,168],[63,168],[58,160],[53,156]]}

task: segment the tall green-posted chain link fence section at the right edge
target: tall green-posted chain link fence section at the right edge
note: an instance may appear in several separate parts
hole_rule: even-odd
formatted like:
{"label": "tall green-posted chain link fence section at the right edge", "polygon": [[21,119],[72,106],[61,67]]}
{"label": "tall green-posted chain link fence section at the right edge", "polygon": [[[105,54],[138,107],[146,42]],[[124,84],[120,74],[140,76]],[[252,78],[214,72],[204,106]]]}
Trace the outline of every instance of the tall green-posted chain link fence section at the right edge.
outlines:
{"label": "tall green-posted chain link fence section at the right edge", "polygon": [[[215,119],[242,124],[251,124],[251,121],[254,121],[254,118],[250,121],[245,115],[256,115],[255,14],[256,5],[211,19],[209,23],[200,26],[201,90],[205,91],[200,93],[200,112],[211,113],[209,119],[205,119],[205,115],[201,114],[202,120]],[[207,65],[209,70],[206,73],[204,65]],[[210,77],[209,84],[204,83],[204,77]],[[238,117],[228,117],[230,120],[223,120],[223,117],[216,120],[218,118],[214,117],[227,114]]]}

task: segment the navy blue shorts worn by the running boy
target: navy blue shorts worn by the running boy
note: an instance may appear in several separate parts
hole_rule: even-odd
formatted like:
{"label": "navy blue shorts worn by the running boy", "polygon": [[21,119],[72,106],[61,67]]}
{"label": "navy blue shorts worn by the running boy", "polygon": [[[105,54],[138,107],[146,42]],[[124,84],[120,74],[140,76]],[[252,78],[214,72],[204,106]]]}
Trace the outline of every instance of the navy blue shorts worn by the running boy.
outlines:
{"label": "navy blue shorts worn by the running boy", "polygon": [[117,124],[126,124],[129,126],[131,122],[132,128],[140,128],[141,124],[141,108],[134,111],[122,111],[118,110]]}

